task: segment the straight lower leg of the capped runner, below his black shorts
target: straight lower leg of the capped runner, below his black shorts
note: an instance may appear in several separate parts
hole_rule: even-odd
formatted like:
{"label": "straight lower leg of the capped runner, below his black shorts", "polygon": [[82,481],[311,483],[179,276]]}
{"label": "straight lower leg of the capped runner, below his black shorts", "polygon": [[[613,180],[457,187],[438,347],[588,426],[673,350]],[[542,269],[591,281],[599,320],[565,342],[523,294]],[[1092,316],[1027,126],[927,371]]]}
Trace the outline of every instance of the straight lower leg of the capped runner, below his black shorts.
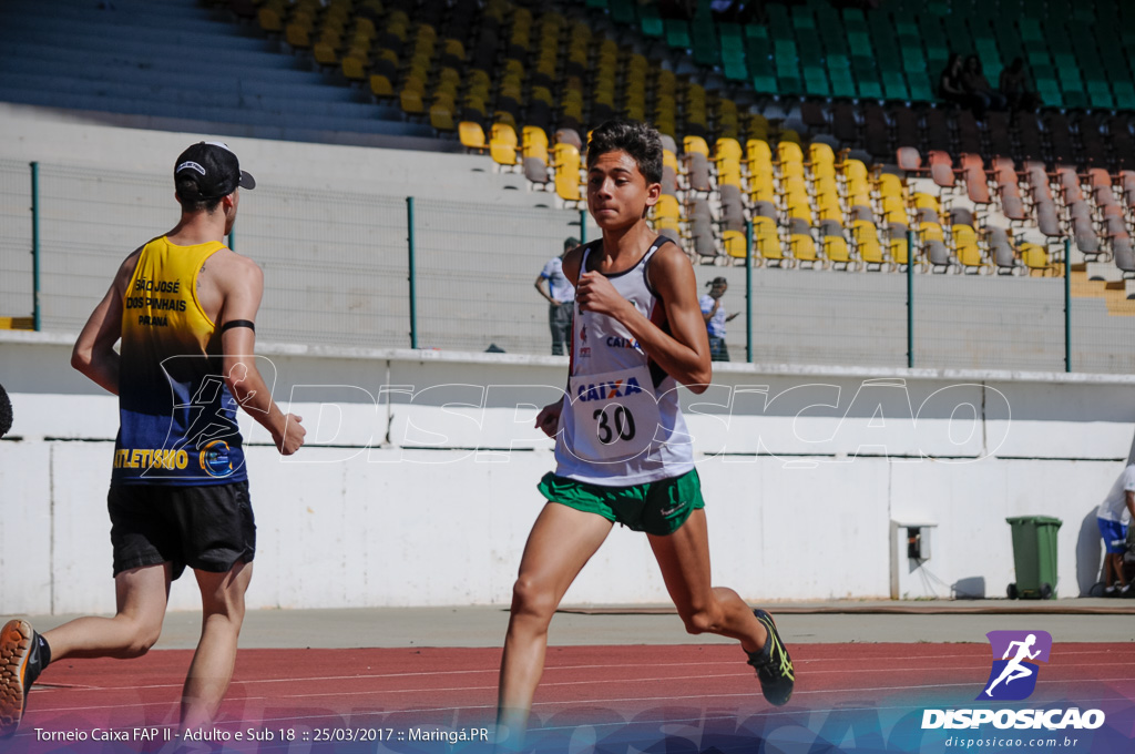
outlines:
{"label": "straight lower leg of the capped runner, below his black shorts", "polygon": [[182,730],[211,723],[228,690],[252,563],[237,563],[226,573],[199,570],[194,573],[201,588],[201,640],[182,692]]}

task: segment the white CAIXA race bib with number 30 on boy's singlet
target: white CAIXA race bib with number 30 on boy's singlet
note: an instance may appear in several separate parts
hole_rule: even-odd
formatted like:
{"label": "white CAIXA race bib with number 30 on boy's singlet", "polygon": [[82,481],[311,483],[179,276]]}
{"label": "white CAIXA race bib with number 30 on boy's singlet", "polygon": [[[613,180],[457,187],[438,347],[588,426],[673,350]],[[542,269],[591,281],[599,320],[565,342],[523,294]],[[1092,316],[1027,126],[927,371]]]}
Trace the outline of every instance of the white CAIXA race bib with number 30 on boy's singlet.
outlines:
{"label": "white CAIXA race bib with number 30 on boy's singlet", "polygon": [[592,462],[629,461],[650,447],[661,420],[650,370],[572,377],[572,453]]}

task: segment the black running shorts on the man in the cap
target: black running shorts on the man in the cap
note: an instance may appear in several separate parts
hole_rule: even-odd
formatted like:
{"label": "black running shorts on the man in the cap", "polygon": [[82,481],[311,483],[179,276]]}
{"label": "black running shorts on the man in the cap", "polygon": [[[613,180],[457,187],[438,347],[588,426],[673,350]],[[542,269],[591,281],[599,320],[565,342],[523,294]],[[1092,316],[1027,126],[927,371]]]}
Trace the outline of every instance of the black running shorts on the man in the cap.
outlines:
{"label": "black running shorts on the man in the cap", "polygon": [[204,487],[110,485],[110,543],[115,576],[132,568],[174,564],[224,573],[257,553],[249,483]]}

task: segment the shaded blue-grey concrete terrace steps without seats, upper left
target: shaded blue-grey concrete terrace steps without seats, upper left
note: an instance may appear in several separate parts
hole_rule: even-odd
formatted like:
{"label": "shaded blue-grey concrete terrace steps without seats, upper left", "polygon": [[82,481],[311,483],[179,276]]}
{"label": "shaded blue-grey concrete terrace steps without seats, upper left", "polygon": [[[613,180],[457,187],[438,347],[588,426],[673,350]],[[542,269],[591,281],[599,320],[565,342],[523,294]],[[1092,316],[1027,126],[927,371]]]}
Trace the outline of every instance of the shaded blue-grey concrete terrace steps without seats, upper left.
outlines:
{"label": "shaded blue-grey concrete terrace steps without seats, upper left", "polygon": [[[227,135],[438,150],[396,108],[195,0],[6,0],[0,101]],[[192,124],[192,125],[190,125]]]}

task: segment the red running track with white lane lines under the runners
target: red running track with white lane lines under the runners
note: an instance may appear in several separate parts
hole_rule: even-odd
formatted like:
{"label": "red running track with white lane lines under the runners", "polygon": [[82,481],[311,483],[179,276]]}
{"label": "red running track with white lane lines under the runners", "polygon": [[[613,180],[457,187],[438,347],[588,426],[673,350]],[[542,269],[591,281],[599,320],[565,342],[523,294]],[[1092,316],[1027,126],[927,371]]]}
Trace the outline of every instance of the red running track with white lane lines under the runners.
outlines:
{"label": "red running track with white lane lines under the runners", "polygon": [[[774,710],[735,646],[553,647],[529,743],[565,753],[945,752],[951,749],[943,742],[956,731],[922,731],[923,709],[982,706],[974,697],[991,667],[989,646],[978,644],[800,644],[792,653],[796,692],[789,706]],[[217,729],[252,730],[272,740],[230,738],[199,744],[196,751],[488,751],[407,737],[487,727],[499,654],[498,648],[243,650]],[[132,661],[52,665],[32,692],[19,734],[0,742],[0,752],[174,751],[133,729],[176,719],[190,655],[168,650]],[[1108,721],[1086,734],[1095,736],[1091,746],[1061,751],[1135,751],[1135,644],[1057,645],[1032,697],[1009,706],[1102,709]],[[89,738],[47,740],[36,728]],[[107,729],[129,731],[131,740],[91,738]],[[316,740],[360,730],[371,740]],[[393,740],[376,739],[388,736]]]}

